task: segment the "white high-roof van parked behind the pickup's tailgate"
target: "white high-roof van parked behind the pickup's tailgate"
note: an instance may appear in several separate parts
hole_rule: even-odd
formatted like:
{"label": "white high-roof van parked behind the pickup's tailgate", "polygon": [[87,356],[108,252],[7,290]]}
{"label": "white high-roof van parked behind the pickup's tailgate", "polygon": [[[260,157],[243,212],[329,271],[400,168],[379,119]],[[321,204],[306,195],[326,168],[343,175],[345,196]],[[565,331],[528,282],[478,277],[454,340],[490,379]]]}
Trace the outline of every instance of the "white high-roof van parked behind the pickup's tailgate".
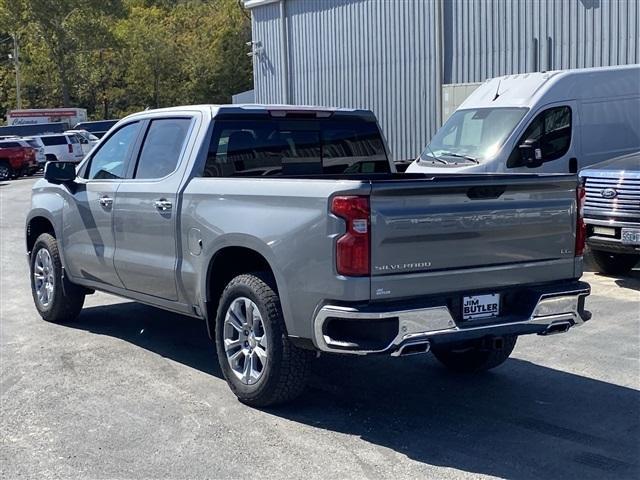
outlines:
{"label": "white high-roof van parked behind the pickup's tailgate", "polygon": [[640,150],[640,65],[484,82],[409,166],[413,173],[576,173]]}

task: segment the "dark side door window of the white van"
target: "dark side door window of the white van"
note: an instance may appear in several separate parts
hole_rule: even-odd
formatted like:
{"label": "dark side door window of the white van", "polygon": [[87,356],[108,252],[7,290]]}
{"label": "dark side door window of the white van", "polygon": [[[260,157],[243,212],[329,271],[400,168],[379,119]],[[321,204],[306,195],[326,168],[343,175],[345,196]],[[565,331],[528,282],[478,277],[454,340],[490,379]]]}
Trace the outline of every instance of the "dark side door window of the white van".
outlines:
{"label": "dark side door window of the white van", "polygon": [[571,145],[571,109],[555,107],[538,114],[511,153],[509,165],[520,164],[518,147],[524,143],[537,144],[544,162],[562,157]]}

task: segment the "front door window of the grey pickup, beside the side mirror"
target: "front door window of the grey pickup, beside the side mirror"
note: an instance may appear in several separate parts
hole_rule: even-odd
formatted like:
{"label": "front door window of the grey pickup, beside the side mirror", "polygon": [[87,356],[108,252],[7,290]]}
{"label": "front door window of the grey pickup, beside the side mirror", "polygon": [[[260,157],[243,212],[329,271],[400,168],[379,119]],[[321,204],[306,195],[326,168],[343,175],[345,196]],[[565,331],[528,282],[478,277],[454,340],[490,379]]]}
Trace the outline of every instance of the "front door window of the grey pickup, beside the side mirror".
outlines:
{"label": "front door window of the grey pickup, beside the side mirror", "polygon": [[111,135],[91,158],[86,178],[123,178],[129,149],[136,140],[138,126],[138,122],[130,123]]}

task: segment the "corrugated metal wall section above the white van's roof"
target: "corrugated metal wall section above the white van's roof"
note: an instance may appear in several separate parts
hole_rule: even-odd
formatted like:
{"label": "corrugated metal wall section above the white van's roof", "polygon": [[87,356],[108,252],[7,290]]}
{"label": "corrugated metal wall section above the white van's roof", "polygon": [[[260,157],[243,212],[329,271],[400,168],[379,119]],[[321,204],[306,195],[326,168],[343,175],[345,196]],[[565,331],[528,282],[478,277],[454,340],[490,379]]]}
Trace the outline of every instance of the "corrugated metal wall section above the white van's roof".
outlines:
{"label": "corrugated metal wall section above the white van's roof", "polygon": [[640,63],[638,0],[446,0],[444,83]]}

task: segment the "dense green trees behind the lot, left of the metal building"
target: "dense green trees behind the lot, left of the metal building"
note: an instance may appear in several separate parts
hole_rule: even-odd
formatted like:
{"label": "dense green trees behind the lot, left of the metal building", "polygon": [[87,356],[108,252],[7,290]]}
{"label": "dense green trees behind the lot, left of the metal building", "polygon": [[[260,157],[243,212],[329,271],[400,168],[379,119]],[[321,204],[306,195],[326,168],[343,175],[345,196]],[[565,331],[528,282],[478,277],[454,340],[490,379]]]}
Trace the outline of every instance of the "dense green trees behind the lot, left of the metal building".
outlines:
{"label": "dense green trees behind the lot, left of the metal building", "polygon": [[0,0],[0,113],[15,106],[14,33],[25,107],[112,118],[229,102],[252,84],[238,0]]}

